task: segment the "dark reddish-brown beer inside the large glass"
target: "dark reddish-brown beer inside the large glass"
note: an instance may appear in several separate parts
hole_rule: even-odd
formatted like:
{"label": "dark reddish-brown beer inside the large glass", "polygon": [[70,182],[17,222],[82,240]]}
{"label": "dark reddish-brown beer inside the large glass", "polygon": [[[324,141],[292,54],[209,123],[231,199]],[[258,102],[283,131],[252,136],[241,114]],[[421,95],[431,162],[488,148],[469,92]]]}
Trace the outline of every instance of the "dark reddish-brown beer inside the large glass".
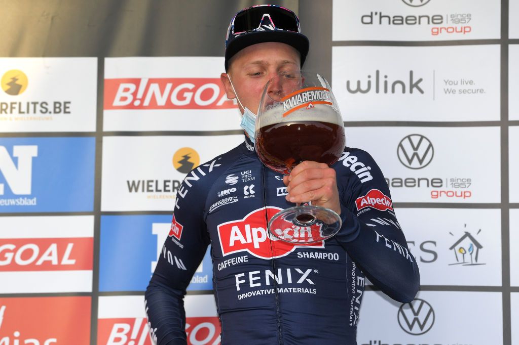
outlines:
{"label": "dark reddish-brown beer inside the large glass", "polygon": [[255,140],[260,160],[288,174],[303,161],[337,162],[344,150],[344,127],[322,121],[275,123],[260,128]]}

